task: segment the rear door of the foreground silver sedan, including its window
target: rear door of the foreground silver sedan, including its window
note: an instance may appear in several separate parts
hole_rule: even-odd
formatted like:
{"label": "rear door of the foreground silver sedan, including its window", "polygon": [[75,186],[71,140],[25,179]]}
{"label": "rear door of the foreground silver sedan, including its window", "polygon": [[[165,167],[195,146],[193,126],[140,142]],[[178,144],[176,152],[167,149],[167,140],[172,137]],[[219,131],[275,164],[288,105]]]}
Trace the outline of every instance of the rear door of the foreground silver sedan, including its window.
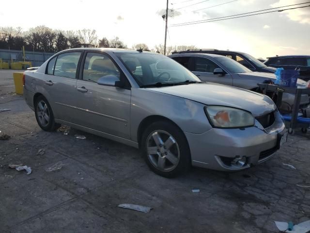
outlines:
{"label": "rear door of the foreground silver sedan, including its window", "polygon": [[76,83],[82,51],[59,54],[47,65],[44,87],[55,118],[75,122],[77,120]]}

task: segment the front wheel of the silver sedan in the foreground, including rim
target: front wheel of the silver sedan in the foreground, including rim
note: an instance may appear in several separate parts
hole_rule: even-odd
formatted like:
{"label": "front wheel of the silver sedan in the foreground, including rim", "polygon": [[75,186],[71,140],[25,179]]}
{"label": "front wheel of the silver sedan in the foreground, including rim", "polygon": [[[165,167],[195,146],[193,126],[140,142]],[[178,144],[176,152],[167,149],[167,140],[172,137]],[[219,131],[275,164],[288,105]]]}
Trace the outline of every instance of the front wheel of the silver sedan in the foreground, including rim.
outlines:
{"label": "front wheel of the silver sedan in the foreground, including rim", "polygon": [[157,121],[146,128],[141,138],[141,150],[150,169],[163,177],[175,177],[191,166],[184,133],[168,121]]}

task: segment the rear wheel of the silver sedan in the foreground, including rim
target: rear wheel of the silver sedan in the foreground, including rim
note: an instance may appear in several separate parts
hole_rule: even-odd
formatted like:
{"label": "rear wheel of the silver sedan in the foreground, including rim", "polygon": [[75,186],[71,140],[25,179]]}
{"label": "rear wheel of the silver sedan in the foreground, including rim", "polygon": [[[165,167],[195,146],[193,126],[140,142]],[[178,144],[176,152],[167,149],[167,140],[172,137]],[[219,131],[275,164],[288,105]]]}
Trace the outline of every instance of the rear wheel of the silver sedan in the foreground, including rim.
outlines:
{"label": "rear wheel of the silver sedan in the foreground, including rim", "polygon": [[38,125],[44,131],[55,131],[61,126],[55,123],[52,108],[44,96],[39,96],[35,101],[34,113]]}

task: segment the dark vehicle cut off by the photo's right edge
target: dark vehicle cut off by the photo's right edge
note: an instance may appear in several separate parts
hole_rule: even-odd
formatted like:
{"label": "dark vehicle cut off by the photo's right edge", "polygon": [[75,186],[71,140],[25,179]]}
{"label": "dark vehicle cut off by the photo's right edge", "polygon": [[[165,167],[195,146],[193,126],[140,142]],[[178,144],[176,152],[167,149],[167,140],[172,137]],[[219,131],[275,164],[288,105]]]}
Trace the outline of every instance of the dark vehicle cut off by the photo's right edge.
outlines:
{"label": "dark vehicle cut off by the photo's right edge", "polygon": [[291,56],[275,56],[267,57],[265,65],[275,68],[284,69],[300,69],[299,78],[305,81],[310,80],[310,56],[291,55]]}

